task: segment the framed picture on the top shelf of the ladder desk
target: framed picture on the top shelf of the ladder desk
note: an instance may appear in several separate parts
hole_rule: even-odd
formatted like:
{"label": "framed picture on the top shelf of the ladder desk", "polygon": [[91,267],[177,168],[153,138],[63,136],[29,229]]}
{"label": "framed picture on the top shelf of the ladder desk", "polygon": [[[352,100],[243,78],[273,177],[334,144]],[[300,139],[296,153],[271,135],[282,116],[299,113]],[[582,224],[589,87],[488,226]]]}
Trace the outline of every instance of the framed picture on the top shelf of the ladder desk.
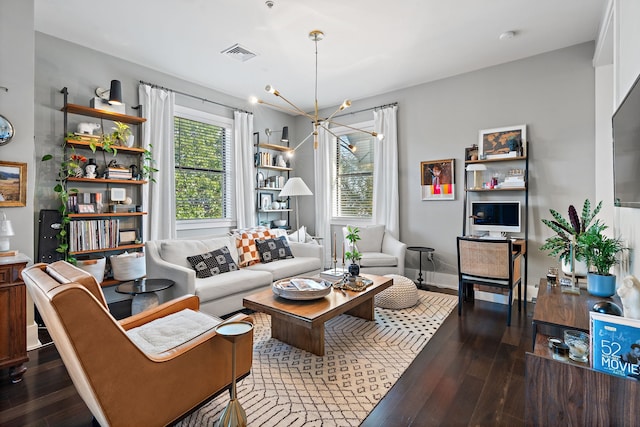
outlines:
{"label": "framed picture on the top shelf of the ladder desk", "polygon": [[527,155],[527,125],[480,131],[480,159],[499,159]]}

